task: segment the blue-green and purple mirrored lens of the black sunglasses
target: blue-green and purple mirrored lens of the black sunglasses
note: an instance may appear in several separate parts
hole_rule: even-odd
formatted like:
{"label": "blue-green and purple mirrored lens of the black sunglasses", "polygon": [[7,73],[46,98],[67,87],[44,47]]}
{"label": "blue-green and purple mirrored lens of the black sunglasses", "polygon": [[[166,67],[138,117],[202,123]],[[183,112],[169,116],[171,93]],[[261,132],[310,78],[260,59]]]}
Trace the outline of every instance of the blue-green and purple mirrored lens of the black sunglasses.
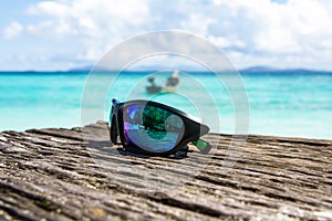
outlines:
{"label": "blue-green and purple mirrored lens of the black sunglasses", "polygon": [[126,143],[147,151],[168,151],[184,135],[184,122],[179,116],[153,105],[129,105],[123,115]]}

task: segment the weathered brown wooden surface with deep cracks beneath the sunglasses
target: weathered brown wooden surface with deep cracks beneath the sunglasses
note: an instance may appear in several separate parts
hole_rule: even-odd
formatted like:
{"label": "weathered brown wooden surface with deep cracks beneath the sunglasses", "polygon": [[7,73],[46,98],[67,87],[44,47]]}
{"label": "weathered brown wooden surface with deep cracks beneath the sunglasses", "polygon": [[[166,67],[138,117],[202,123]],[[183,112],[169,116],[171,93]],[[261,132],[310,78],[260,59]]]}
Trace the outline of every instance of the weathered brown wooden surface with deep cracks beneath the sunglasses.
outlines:
{"label": "weathered brown wooden surface with deep cracks beneath the sunglasses", "polygon": [[162,158],[112,146],[105,123],[0,133],[0,220],[332,220],[331,140],[205,139]]}

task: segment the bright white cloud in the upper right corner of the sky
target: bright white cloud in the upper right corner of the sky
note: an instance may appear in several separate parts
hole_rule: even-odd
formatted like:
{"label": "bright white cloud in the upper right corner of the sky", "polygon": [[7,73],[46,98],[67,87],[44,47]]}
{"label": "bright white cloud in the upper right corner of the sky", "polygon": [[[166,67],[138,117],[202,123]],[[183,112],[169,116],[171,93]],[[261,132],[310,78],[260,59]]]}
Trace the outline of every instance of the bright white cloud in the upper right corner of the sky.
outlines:
{"label": "bright white cloud in the upper right corner of the sky", "polygon": [[332,38],[328,10],[311,0],[271,3],[261,13],[261,19],[267,22],[264,30],[255,39],[257,48],[272,53],[304,53],[318,48],[321,38]]}

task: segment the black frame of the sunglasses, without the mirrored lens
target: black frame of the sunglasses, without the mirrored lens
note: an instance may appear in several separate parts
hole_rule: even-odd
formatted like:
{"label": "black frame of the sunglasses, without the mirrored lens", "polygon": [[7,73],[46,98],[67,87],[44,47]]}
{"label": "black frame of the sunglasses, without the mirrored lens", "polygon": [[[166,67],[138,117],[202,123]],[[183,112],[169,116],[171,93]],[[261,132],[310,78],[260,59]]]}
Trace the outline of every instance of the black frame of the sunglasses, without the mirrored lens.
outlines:
{"label": "black frame of the sunglasses, without the mirrored lens", "polygon": [[[129,102],[120,103],[116,99],[112,99],[112,110],[110,114],[110,137],[113,144],[117,143],[117,137],[120,136],[121,144],[124,147],[125,150],[135,152],[135,154],[142,154],[142,155],[148,155],[148,156],[169,156],[177,151],[179,151],[184,146],[186,146],[190,141],[196,141],[199,139],[200,136],[207,134],[209,131],[209,127],[207,125],[204,125],[201,120],[195,116],[191,116],[187,113],[184,113],[179,109],[176,109],[174,107],[152,102],[152,101],[145,101],[145,99],[135,99]],[[173,147],[170,150],[163,151],[163,152],[154,152],[145,150],[134,144],[126,143],[125,136],[124,136],[124,122],[123,122],[123,110],[131,105],[139,104],[139,105],[148,105],[162,108],[164,110],[167,110],[178,117],[181,118],[184,122],[184,135],[181,136],[180,140],[178,140],[177,145]]]}

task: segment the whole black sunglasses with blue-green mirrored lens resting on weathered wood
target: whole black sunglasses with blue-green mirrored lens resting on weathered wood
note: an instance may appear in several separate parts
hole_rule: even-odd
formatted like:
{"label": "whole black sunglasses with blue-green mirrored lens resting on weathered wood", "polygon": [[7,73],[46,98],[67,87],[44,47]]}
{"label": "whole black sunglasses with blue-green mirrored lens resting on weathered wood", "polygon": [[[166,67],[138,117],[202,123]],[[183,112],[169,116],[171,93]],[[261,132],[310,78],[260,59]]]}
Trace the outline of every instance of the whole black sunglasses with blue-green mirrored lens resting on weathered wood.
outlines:
{"label": "whole black sunglasses with blue-green mirrored lens resting on weathered wood", "polygon": [[169,156],[187,144],[194,144],[201,154],[211,145],[199,137],[209,131],[201,120],[170,106],[144,99],[120,103],[112,99],[110,136],[113,144],[125,150],[149,155]]}

